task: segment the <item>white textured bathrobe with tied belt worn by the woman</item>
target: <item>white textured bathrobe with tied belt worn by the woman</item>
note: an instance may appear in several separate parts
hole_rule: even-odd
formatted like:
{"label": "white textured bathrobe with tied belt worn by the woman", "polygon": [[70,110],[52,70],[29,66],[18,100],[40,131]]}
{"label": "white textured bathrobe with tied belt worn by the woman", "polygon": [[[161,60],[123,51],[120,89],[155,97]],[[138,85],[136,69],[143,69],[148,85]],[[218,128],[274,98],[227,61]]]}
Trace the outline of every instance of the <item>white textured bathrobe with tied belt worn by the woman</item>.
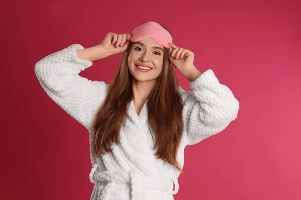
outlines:
{"label": "white textured bathrobe with tied belt worn by the woman", "polygon": [[[44,57],[35,65],[35,72],[47,94],[90,133],[93,166],[90,180],[95,184],[91,199],[174,199],[173,194],[179,189],[177,178],[180,172],[154,155],[146,103],[137,115],[131,100],[120,128],[118,144],[111,145],[112,152],[95,158],[91,124],[97,108],[105,99],[108,84],[78,75],[92,65],[91,61],[77,56],[76,51],[82,48],[80,44],[72,44]],[[185,146],[222,131],[237,117],[239,109],[239,102],[231,90],[219,83],[211,69],[189,86],[192,92],[179,88],[184,102],[185,129],[178,153],[181,167],[184,165]]]}

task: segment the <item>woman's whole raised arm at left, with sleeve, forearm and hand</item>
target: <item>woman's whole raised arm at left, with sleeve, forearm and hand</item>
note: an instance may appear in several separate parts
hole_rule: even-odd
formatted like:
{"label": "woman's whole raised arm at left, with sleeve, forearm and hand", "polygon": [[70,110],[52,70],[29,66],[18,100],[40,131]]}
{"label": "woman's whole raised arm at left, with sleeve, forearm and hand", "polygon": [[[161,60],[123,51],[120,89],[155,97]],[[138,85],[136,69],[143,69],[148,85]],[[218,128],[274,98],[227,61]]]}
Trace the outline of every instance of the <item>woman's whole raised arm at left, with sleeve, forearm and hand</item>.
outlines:
{"label": "woman's whole raised arm at left, with sleeve, forearm and hand", "polygon": [[129,38],[128,33],[108,32],[96,46],[84,48],[72,44],[35,65],[36,75],[46,93],[87,129],[91,128],[94,113],[104,101],[109,85],[88,80],[78,73],[90,67],[94,60],[123,52]]}

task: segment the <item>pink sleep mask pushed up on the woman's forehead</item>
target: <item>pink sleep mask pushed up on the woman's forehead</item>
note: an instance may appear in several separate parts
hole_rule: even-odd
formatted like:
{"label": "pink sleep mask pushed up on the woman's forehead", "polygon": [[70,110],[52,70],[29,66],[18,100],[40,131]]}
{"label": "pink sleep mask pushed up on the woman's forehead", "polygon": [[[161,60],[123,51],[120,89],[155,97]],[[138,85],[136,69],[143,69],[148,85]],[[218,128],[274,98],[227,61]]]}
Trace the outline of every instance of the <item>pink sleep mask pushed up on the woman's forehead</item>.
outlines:
{"label": "pink sleep mask pushed up on the woman's forehead", "polygon": [[135,42],[146,37],[152,37],[157,43],[166,48],[170,48],[168,43],[173,42],[172,35],[155,21],[148,21],[135,27],[129,40]]}

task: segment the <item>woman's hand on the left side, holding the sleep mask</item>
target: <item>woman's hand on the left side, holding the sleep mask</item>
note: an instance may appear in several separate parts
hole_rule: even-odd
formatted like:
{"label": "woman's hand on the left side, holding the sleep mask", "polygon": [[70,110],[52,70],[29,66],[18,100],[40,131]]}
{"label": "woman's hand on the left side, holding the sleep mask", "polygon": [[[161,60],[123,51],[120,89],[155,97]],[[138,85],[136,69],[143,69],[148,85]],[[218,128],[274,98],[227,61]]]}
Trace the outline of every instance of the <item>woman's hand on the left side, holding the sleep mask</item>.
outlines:
{"label": "woman's hand on the left side, holding the sleep mask", "polygon": [[123,52],[127,48],[129,38],[130,34],[128,33],[116,34],[108,32],[99,46],[103,47],[109,55],[113,55]]}

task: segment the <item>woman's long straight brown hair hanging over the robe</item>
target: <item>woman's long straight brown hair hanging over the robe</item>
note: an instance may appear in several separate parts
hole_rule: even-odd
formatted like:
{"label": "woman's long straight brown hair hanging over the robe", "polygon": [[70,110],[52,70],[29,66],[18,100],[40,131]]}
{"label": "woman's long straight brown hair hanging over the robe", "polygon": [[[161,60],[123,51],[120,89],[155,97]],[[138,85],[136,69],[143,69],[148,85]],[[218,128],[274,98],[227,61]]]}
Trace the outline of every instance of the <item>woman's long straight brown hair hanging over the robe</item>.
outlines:
{"label": "woman's long straight brown hair hanging over the robe", "polygon": [[[97,157],[104,151],[111,152],[112,142],[118,143],[119,129],[132,99],[132,76],[127,65],[131,47],[132,42],[129,42],[114,78],[109,84],[106,98],[93,120],[93,149]],[[169,49],[164,47],[163,68],[147,98],[148,127],[155,144],[153,149],[157,149],[155,153],[157,158],[166,160],[181,173],[183,170],[177,155],[184,130],[182,109],[183,100],[179,92],[179,83],[169,59]]]}

